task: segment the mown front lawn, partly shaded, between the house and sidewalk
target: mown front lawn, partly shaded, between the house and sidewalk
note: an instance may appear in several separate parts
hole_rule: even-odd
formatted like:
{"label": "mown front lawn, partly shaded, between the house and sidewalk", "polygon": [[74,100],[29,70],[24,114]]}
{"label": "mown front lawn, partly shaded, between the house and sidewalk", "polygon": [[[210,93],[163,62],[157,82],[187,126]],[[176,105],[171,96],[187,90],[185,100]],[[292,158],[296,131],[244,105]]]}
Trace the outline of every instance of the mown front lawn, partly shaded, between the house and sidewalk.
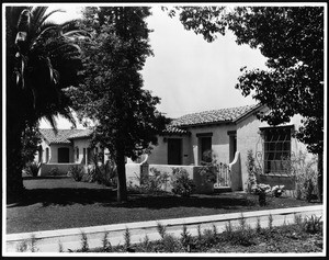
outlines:
{"label": "mown front lawn, partly shaded, between the house and sidewalk", "polygon": [[[118,204],[111,188],[70,178],[24,178],[24,185],[22,199],[7,205],[8,234],[264,210],[257,196],[242,192],[191,197],[129,194],[128,202]],[[268,210],[319,203],[268,201]]]}

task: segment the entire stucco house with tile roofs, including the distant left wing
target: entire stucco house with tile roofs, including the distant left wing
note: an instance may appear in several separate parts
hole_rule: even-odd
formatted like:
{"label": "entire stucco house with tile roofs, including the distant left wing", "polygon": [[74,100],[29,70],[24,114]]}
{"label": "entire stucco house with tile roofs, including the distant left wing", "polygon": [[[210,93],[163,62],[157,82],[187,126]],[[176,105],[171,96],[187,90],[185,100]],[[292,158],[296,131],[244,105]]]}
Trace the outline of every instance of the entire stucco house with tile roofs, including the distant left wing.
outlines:
{"label": "entire stucco house with tile roofs, including the distant left wing", "polygon": [[[265,105],[257,104],[204,111],[175,118],[158,136],[158,145],[152,147],[149,155],[137,161],[127,159],[127,181],[138,184],[138,176],[149,174],[151,169],[171,172],[177,167],[185,169],[194,180],[200,180],[200,169],[204,162],[212,160],[211,154],[222,167],[215,186],[245,190],[248,179],[247,156],[252,150],[256,165],[261,170],[258,176],[260,182],[284,184],[294,190],[294,179],[283,159],[306,151],[306,146],[293,135],[303,117],[295,115],[286,124],[270,126],[258,118],[258,114],[268,112]],[[103,149],[99,146],[93,149],[89,147],[91,129],[58,129],[57,135],[53,129],[41,129],[41,133],[43,143],[37,156],[38,161],[43,162],[41,174],[46,174],[52,167],[67,171],[70,165],[88,166],[92,155],[99,151],[103,154],[102,161],[106,160]],[[307,156],[311,157],[310,154]],[[225,184],[219,181],[223,174],[230,179],[229,183],[227,180]]]}

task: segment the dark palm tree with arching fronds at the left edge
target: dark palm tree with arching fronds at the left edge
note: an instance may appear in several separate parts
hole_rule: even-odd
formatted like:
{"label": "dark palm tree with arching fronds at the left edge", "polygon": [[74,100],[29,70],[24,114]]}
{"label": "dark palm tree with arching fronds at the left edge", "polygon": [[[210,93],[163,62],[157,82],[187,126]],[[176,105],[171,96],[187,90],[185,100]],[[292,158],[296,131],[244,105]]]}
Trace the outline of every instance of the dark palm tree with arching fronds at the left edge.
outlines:
{"label": "dark palm tree with arching fronds at the left edge", "polygon": [[47,22],[47,7],[7,7],[7,191],[23,189],[22,134],[45,117],[75,124],[66,88],[79,82],[81,69],[78,21]]}

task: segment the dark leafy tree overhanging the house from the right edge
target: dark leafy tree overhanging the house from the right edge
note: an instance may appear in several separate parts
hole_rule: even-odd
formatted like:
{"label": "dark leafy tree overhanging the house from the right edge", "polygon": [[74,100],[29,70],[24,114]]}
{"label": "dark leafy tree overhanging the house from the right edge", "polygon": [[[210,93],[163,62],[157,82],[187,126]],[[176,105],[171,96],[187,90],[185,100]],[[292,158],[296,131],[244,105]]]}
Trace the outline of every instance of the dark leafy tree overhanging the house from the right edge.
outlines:
{"label": "dark leafy tree overhanging the house from the right edge", "polygon": [[318,155],[321,189],[324,7],[189,7],[169,11],[171,16],[177,13],[186,30],[208,42],[231,30],[237,44],[259,48],[268,58],[266,70],[241,68],[236,88],[270,109],[260,116],[270,125],[288,122],[295,114],[304,117],[296,137]]}

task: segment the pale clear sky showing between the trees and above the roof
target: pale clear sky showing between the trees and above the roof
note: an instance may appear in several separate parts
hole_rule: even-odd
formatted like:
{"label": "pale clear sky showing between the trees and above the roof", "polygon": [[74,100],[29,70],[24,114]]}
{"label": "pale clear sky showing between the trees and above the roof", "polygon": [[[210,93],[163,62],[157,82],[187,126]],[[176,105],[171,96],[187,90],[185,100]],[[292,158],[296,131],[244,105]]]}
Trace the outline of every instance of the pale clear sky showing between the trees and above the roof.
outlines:
{"label": "pale clear sky showing between the trees and above the roof", "polygon": [[[77,4],[52,5],[66,13],[56,13],[50,20],[60,22],[79,16]],[[259,49],[237,45],[228,32],[207,43],[202,35],[184,30],[178,18],[169,18],[160,5],[152,5],[152,15],[146,22],[154,30],[149,35],[154,56],[147,58],[144,70],[144,88],[161,99],[157,109],[174,118],[184,114],[256,104],[251,97],[242,97],[235,89],[240,68],[265,68],[265,57]],[[58,118],[58,128],[70,128],[71,124]],[[42,128],[50,128],[45,121]],[[82,128],[78,124],[78,128]]]}

